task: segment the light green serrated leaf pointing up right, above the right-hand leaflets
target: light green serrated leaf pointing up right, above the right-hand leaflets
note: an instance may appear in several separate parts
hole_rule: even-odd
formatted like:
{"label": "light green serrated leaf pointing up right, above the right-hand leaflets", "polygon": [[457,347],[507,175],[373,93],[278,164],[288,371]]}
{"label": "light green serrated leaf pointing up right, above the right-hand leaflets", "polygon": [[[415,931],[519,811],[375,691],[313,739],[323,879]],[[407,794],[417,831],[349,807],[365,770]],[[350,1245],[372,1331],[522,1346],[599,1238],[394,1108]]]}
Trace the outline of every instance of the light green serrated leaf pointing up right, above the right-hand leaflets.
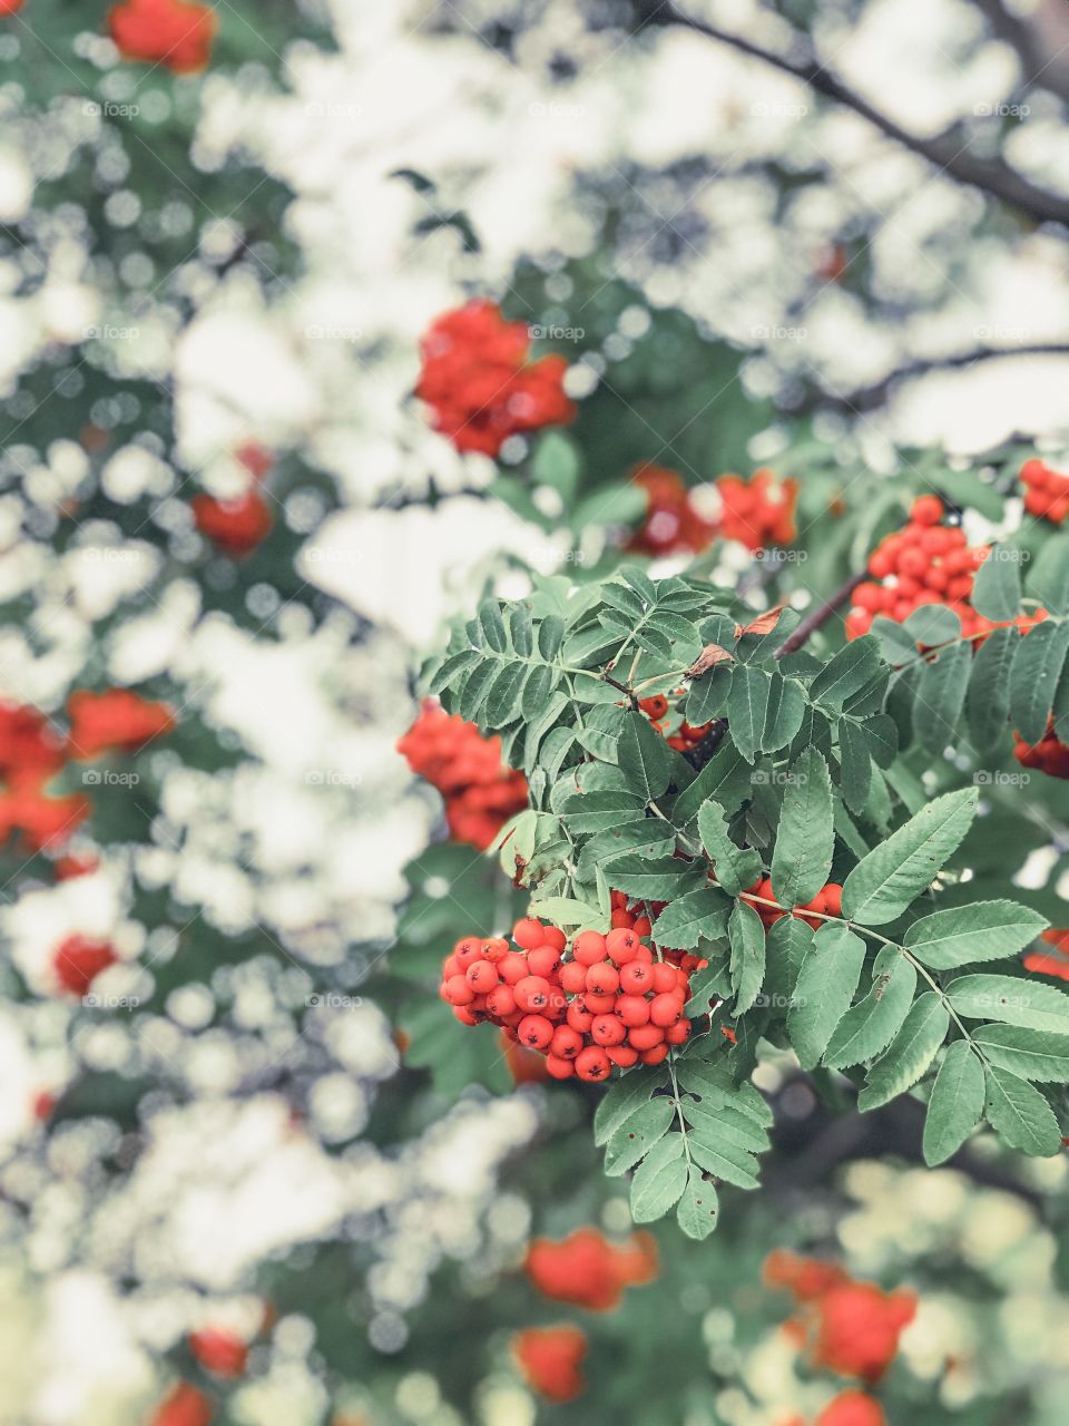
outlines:
{"label": "light green serrated leaf pointing up right, above the right-hand leaflets", "polygon": [[932,884],[976,816],[976,789],[945,793],[874,847],[842,886],[842,910],[862,925],[884,925]]}

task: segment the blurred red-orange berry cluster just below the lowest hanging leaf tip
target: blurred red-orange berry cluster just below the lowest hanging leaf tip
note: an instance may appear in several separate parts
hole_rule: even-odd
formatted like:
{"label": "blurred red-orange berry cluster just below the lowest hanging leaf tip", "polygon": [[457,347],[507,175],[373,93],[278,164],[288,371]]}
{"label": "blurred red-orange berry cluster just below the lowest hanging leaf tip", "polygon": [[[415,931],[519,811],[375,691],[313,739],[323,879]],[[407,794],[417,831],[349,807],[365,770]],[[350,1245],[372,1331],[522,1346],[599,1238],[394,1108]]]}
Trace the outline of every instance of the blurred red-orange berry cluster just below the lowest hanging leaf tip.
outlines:
{"label": "blurred red-orange berry cluster just below the lowest hanging leaf tip", "polygon": [[577,1228],[562,1242],[536,1238],[523,1263],[532,1285],[554,1302],[589,1312],[611,1312],[626,1288],[653,1282],[659,1272],[657,1243],[636,1233],[630,1243],[610,1242],[597,1228]]}

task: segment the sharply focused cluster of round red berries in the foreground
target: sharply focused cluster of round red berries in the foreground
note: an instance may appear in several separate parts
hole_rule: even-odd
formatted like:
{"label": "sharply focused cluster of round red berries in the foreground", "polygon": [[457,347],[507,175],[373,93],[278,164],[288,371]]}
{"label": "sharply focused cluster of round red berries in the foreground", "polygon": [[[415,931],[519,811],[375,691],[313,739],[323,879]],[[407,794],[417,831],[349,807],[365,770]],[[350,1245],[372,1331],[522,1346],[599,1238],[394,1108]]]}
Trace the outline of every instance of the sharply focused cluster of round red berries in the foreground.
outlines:
{"label": "sharply focused cluster of round red berries in the foreground", "polygon": [[554,1079],[599,1082],[613,1065],[660,1064],[690,1035],[683,1007],[701,963],[680,953],[678,964],[656,960],[643,944],[649,917],[629,911],[619,891],[613,901],[620,924],[607,935],[580,931],[567,960],[564,933],[533,917],[512,928],[519,950],[503,937],[465,937],[442,964],[442,1000],[462,1024],[489,1021],[543,1054]]}

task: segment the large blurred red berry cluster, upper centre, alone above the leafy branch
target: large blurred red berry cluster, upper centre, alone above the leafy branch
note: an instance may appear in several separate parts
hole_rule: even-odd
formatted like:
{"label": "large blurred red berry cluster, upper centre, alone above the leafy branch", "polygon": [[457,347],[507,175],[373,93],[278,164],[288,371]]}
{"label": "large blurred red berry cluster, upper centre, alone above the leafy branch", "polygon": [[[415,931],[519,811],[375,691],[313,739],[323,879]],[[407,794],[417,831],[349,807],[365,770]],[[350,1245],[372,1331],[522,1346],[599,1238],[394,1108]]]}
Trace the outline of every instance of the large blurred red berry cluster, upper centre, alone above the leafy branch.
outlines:
{"label": "large blurred red berry cluster, upper centre, alone above the leafy branch", "polygon": [[496,456],[509,436],[567,425],[564,356],[530,361],[525,322],[506,322],[496,302],[477,298],[443,312],[420,342],[416,395],[435,411],[435,431],[458,451]]}

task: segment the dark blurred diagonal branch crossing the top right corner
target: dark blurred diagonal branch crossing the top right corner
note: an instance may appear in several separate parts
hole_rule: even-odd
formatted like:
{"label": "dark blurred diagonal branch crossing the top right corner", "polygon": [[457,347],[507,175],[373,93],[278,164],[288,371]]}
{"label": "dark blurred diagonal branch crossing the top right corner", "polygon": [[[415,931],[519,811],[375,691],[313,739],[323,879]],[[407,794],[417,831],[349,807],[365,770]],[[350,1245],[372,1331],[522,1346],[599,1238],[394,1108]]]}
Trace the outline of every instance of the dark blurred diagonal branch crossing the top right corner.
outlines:
{"label": "dark blurred diagonal branch crossing the top right corner", "polygon": [[975,154],[962,150],[959,141],[952,135],[944,134],[924,138],[908,128],[902,128],[894,118],[881,113],[864,96],[855,93],[855,90],[849,88],[848,84],[844,84],[842,80],[827,70],[812,53],[804,60],[790,60],[774,50],[763,48],[741,34],[733,34],[730,30],[721,30],[706,20],[683,14],[674,6],[664,3],[664,0],[639,0],[636,13],[640,29],[670,24],[680,26],[681,29],[693,30],[696,34],[704,34],[706,39],[716,40],[718,44],[728,44],[733,50],[738,50],[740,54],[745,54],[750,58],[761,60],[783,74],[790,74],[792,78],[801,80],[802,84],[808,84],[810,88],[825,98],[854,110],[861,118],[868,120],[874,128],[878,128],[881,134],[894,138],[905,148],[926,158],[929,164],[934,164],[941,173],[949,174],[958,183],[979,188],[982,193],[1029,214],[1038,222],[1060,222],[1069,227],[1069,198],[1038,188],[1022,174],[1016,173],[1016,170],[1011,168],[1002,158],[976,158]]}

